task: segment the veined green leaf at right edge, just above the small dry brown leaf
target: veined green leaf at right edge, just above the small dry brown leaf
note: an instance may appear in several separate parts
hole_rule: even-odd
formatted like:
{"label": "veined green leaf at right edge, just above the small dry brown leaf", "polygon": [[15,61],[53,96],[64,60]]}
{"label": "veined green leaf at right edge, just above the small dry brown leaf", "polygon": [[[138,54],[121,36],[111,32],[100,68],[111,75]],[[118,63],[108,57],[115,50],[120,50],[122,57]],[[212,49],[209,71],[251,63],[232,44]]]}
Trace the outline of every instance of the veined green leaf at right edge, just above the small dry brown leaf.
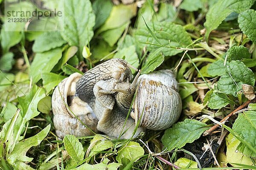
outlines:
{"label": "veined green leaf at right edge, just above the small dry brown leaf", "polygon": [[236,60],[230,62],[226,68],[226,73],[219,79],[217,88],[225,94],[237,96],[237,92],[241,90],[242,84],[253,86],[254,83],[255,76],[253,71],[247,68],[243,62]]}

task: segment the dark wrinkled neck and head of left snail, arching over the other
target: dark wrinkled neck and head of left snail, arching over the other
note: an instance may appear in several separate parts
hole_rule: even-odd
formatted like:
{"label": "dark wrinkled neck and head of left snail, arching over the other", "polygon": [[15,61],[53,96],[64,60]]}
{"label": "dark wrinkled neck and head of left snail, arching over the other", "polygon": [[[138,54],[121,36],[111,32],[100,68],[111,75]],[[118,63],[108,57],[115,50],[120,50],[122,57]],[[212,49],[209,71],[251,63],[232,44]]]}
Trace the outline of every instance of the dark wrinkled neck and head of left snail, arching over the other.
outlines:
{"label": "dark wrinkled neck and head of left snail, arching over the other", "polygon": [[132,74],[130,68],[134,67],[124,59],[116,58],[103,62],[84,73],[78,80],[76,83],[76,95],[94,109],[95,96],[93,95],[93,87],[96,82],[101,80],[122,82],[127,78],[131,80]]}

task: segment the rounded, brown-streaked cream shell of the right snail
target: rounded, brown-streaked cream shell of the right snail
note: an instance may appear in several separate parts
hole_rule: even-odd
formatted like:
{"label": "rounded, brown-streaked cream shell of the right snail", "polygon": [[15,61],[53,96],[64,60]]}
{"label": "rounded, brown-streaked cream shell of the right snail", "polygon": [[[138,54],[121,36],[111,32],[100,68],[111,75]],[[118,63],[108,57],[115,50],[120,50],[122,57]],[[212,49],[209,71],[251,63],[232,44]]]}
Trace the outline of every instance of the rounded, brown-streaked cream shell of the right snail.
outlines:
{"label": "rounded, brown-streaked cream shell of the right snail", "polygon": [[163,130],[180,116],[182,103],[177,81],[170,70],[154,71],[140,77],[134,102],[135,122],[151,130]]}

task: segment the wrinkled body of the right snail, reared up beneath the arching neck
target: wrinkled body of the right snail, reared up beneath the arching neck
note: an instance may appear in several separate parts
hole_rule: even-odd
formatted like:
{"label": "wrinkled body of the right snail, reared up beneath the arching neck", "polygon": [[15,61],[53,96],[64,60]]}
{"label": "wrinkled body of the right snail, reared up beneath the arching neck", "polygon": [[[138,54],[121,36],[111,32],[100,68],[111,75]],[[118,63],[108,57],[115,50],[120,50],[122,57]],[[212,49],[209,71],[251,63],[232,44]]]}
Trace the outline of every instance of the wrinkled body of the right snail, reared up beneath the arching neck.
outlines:
{"label": "wrinkled body of the right snail, reared up beneath the arching neck", "polygon": [[[135,129],[135,122],[130,116],[126,123],[125,119],[131,106],[139,75],[140,71],[132,83],[129,82],[129,79],[126,82],[119,83],[111,81],[99,81],[96,83],[93,92],[96,96],[95,113],[99,119],[97,125],[99,131],[116,138],[122,132],[125,132],[121,138],[131,138]],[[142,131],[142,128],[138,128],[133,137],[136,137],[140,131]]]}

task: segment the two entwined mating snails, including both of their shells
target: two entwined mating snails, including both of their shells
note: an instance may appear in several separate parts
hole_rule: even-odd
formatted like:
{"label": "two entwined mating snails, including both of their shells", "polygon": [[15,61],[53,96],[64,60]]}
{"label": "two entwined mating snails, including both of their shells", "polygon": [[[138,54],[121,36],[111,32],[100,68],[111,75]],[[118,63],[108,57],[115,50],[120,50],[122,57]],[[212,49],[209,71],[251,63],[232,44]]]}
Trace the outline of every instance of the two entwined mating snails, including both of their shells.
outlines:
{"label": "two entwined mating snails, including both of their shells", "polygon": [[[163,130],[175,123],[180,116],[181,99],[173,72],[160,70],[140,75],[139,71],[130,83],[130,68],[137,70],[123,59],[110,59],[84,75],[75,73],[59,83],[52,94],[56,134],[60,138],[66,134],[87,136],[92,134],[91,129],[112,137],[123,133],[121,138],[128,139],[137,123],[139,128],[133,137],[143,128]],[[133,111],[125,123],[136,89]]]}

